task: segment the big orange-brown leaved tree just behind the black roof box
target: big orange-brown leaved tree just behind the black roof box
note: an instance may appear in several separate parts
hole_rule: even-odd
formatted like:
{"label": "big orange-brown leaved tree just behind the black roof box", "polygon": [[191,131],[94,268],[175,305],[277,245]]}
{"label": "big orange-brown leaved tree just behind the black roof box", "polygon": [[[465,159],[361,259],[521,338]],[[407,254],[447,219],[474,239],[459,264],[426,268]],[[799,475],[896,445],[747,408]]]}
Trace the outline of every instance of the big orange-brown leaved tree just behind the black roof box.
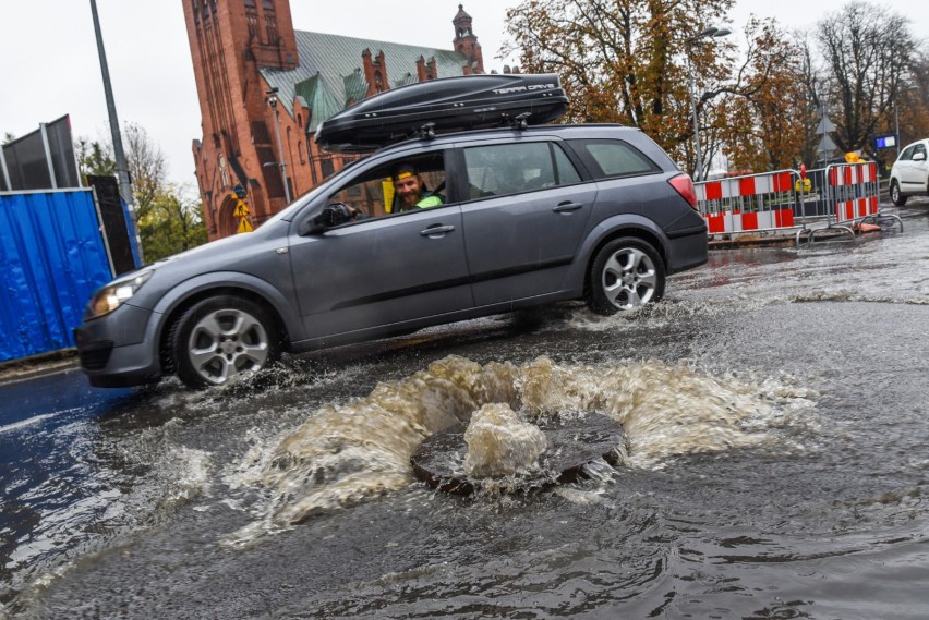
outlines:
{"label": "big orange-brown leaved tree just behind the black roof box", "polygon": [[[558,73],[567,120],[619,122],[673,149],[690,138],[687,38],[720,21],[733,0],[527,0],[507,11],[523,71]],[[703,21],[698,21],[701,15]],[[725,56],[693,59],[715,74]]]}

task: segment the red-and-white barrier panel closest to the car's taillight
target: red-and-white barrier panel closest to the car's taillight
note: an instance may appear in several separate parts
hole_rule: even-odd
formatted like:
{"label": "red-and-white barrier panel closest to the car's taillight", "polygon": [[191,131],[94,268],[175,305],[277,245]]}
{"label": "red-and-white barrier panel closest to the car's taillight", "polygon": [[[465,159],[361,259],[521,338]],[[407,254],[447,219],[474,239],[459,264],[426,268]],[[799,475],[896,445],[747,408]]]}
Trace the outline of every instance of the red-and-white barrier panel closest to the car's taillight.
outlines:
{"label": "red-and-white barrier panel closest to the car's taillight", "polygon": [[796,170],[746,174],[695,183],[697,205],[710,236],[806,228]]}

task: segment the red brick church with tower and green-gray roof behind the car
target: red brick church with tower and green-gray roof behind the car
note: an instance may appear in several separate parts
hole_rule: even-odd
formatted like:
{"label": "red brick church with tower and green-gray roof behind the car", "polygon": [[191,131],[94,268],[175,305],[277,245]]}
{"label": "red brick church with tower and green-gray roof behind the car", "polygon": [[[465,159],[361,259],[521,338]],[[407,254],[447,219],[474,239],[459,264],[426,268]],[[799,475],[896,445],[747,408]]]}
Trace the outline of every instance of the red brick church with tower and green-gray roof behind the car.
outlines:
{"label": "red brick church with tower and green-gray roof behind the car", "polygon": [[294,31],[289,0],[184,0],[184,19],[203,117],[193,156],[210,240],[241,223],[237,185],[260,226],[288,195],[305,194],[348,162],[313,141],[334,113],[388,88],[484,72],[461,4],[454,50]]}

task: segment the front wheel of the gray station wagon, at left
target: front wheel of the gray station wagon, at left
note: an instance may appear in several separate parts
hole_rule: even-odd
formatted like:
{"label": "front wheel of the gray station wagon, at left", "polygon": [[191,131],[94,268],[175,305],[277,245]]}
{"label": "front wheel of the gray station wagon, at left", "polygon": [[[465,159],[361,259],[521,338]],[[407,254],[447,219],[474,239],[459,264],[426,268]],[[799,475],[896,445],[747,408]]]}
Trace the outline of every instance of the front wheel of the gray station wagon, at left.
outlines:
{"label": "front wheel of the gray station wagon, at left", "polygon": [[267,312],[232,295],[207,297],[171,327],[178,378],[190,388],[221,386],[280,358],[280,338]]}

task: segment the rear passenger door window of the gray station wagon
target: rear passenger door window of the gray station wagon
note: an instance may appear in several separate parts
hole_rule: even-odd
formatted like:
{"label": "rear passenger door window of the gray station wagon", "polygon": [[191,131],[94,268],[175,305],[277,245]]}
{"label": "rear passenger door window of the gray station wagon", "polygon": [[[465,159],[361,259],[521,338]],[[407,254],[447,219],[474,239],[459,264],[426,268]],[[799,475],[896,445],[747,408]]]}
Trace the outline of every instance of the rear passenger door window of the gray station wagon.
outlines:
{"label": "rear passenger door window of the gray station wagon", "polygon": [[580,174],[562,147],[547,142],[466,148],[464,166],[471,199],[580,181]]}

